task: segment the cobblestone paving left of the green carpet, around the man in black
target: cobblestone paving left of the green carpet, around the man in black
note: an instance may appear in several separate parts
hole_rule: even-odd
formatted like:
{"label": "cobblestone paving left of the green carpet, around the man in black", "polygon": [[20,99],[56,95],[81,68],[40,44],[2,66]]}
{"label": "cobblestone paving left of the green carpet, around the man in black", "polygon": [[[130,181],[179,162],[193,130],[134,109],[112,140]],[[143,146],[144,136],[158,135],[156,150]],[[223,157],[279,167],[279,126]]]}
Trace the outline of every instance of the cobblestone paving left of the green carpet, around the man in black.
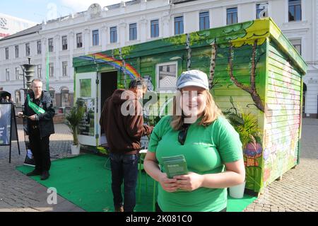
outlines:
{"label": "cobblestone paving left of the green carpet, around the man in black", "polygon": [[[66,125],[55,125],[55,134],[50,137],[52,160],[68,157],[72,137]],[[18,125],[20,156],[17,142],[13,142],[11,164],[8,163],[9,148],[0,147],[0,212],[83,211],[68,200],[57,197],[56,205],[47,203],[47,188],[16,170],[25,159],[25,144],[22,126]]]}

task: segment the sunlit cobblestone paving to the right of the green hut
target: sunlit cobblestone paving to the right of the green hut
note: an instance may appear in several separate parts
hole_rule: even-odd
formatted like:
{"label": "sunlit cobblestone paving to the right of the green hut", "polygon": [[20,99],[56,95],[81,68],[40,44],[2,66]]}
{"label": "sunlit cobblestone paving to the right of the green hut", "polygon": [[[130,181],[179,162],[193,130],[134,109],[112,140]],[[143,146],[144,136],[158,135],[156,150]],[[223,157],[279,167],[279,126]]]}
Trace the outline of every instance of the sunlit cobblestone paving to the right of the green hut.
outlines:
{"label": "sunlit cobblestone paving to the right of the green hut", "polygon": [[273,181],[246,212],[318,211],[318,119],[302,120],[300,164]]}

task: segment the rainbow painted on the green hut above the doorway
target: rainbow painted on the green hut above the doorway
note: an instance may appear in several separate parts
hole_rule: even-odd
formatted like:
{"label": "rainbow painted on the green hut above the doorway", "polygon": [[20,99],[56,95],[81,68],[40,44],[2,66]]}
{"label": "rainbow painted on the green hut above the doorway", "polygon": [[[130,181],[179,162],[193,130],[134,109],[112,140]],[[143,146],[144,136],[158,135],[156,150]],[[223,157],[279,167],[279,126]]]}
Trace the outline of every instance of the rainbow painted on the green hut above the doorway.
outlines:
{"label": "rainbow painted on the green hut above the doorway", "polygon": [[90,60],[90,61],[95,60],[97,63],[109,64],[110,66],[124,72],[124,74],[128,74],[129,77],[131,77],[131,79],[136,79],[140,77],[140,74],[137,72],[137,70],[134,67],[131,66],[131,64],[126,63],[124,67],[122,60],[116,60],[114,57],[110,57],[102,53],[89,54],[79,58]]}

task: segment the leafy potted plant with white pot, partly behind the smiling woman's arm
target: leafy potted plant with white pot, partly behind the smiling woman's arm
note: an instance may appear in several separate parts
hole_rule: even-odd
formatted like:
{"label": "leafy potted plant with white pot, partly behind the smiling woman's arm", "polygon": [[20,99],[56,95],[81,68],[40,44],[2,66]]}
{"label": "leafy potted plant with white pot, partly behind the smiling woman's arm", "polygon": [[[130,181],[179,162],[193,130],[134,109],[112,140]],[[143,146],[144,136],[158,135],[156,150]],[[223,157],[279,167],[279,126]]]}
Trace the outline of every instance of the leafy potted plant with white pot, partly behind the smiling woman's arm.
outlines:
{"label": "leafy potted plant with white pot, partly behind the smiling woman's arm", "polygon": [[[260,145],[260,130],[257,117],[252,113],[237,113],[232,98],[230,98],[232,108],[225,112],[224,115],[230,120],[230,123],[240,135],[244,157],[247,159],[245,166],[258,166],[257,157],[261,156],[262,149]],[[234,110],[231,111],[231,110]],[[245,182],[230,187],[230,196],[232,198],[242,198],[245,191]]]}

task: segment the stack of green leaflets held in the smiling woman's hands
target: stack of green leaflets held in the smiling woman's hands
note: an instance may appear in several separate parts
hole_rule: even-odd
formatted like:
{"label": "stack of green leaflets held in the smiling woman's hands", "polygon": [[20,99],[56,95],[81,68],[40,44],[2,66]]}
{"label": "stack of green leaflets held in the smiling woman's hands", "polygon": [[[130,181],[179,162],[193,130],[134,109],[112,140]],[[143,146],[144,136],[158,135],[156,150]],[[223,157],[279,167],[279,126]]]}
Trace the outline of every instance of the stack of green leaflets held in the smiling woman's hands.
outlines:
{"label": "stack of green leaflets held in the smiling woman's hands", "polygon": [[183,154],[162,157],[161,159],[168,178],[171,179],[173,176],[188,174],[187,162]]}

